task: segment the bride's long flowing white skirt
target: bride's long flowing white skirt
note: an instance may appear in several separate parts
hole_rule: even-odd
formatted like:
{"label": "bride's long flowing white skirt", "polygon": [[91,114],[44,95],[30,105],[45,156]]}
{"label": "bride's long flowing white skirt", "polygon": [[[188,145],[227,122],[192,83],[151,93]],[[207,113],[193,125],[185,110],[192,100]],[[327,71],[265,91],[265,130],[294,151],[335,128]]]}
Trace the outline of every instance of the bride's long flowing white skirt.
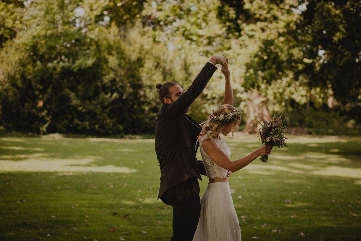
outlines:
{"label": "bride's long flowing white skirt", "polygon": [[241,229],[229,182],[209,183],[193,241],[240,241]]}

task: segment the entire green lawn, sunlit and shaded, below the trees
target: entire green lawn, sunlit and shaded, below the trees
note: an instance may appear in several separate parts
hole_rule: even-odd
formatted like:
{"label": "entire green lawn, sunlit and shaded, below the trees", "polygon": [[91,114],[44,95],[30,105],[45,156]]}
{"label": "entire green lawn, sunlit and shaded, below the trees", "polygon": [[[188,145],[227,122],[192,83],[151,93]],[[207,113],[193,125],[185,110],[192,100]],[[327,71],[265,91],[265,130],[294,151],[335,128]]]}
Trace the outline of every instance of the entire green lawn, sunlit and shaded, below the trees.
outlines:
{"label": "entire green lawn, sunlit and shaded, below the trees", "polygon": [[[261,145],[226,141],[233,159]],[[361,138],[288,145],[230,177],[242,240],[360,240]],[[153,139],[0,138],[0,172],[0,240],[170,240]]]}

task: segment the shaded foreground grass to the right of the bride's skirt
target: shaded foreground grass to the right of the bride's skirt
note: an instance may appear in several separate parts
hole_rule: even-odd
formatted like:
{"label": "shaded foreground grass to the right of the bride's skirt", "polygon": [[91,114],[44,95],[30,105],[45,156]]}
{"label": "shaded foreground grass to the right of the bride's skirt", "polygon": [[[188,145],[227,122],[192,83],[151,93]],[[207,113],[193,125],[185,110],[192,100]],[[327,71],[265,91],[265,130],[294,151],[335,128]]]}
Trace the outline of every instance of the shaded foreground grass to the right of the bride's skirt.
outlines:
{"label": "shaded foreground grass to the right of the bride's skirt", "polygon": [[287,173],[255,177],[243,174],[241,185],[230,183],[245,240],[303,240],[300,233],[310,240],[360,236],[360,186],[352,178]]}

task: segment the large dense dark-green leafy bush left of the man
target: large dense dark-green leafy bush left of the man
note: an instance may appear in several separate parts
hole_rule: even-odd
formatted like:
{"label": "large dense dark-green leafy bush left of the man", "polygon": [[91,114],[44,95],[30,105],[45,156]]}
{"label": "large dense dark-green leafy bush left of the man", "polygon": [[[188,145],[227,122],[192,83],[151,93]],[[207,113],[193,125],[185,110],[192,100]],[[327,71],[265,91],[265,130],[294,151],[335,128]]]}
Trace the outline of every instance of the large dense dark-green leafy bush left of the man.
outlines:
{"label": "large dense dark-green leafy bush left of the man", "polygon": [[[1,50],[1,124],[8,130],[97,135],[153,131],[144,114],[142,54],[87,2],[32,1]],[[99,3],[98,3],[99,4]],[[99,7],[99,6],[98,6]],[[91,16],[91,17],[90,17]]]}

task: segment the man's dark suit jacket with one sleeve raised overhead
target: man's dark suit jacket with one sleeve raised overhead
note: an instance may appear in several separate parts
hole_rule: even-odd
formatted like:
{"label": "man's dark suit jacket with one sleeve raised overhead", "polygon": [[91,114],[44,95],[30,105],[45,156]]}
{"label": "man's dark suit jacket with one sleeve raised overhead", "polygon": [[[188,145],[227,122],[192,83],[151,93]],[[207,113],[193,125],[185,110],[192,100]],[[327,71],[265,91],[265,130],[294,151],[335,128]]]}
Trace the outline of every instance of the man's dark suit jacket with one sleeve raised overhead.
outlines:
{"label": "man's dark suit jacket with one sleeve raised overhead", "polygon": [[196,160],[195,151],[202,128],[185,113],[216,69],[207,62],[187,91],[173,103],[163,104],[157,113],[155,149],[161,171],[158,199],[166,190],[193,176],[202,180],[200,171],[205,175],[203,162]]}

